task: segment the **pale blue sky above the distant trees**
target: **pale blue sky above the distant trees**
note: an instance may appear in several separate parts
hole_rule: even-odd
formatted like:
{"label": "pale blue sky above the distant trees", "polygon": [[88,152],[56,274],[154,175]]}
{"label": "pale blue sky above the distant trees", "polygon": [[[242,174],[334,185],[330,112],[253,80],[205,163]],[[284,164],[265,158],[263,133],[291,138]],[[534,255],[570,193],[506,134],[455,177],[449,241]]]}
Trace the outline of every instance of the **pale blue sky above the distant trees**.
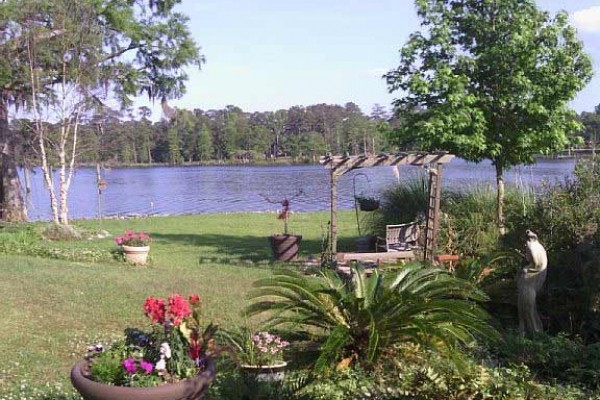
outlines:
{"label": "pale blue sky above the distant trees", "polygon": [[[572,101],[577,111],[600,103],[600,0],[537,0],[540,9],[566,10],[595,76]],[[399,63],[399,49],[419,30],[412,0],[183,0],[192,35],[206,57],[189,69],[187,93],[172,106],[247,112],[291,106],[356,103],[390,109],[381,75]],[[151,106],[138,101],[137,106]],[[151,107],[153,119],[160,115]]]}

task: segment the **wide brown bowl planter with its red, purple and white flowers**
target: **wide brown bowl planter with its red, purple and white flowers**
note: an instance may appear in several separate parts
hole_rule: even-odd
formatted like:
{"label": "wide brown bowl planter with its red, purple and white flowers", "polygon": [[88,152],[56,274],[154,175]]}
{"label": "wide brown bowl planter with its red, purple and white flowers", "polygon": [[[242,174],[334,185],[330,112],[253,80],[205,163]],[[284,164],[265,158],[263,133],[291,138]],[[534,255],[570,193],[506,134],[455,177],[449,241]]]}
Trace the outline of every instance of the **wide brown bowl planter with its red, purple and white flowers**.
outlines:
{"label": "wide brown bowl planter with its red, purple and white flowers", "polygon": [[71,382],[86,400],[192,400],[215,378],[217,328],[200,323],[200,299],[173,294],[148,297],[150,329],[128,328],[125,338],[104,350],[91,346],[71,370]]}

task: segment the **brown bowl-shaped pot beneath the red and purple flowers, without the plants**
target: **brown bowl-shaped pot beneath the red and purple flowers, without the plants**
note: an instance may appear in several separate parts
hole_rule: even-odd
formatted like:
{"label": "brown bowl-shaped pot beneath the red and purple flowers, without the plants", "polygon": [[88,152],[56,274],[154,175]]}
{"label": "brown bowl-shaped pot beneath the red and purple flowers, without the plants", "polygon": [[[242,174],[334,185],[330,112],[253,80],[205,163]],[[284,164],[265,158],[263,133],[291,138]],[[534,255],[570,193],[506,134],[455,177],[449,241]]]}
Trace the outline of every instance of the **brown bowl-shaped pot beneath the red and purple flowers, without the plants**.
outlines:
{"label": "brown bowl-shaped pot beneath the red and purple flowers, without the plants", "polygon": [[149,388],[111,386],[90,379],[89,362],[82,361],[71,370],[71,383],[85,400],[197,400],[208,391],[216,368],[209,361],[199,375],[178,383]]}

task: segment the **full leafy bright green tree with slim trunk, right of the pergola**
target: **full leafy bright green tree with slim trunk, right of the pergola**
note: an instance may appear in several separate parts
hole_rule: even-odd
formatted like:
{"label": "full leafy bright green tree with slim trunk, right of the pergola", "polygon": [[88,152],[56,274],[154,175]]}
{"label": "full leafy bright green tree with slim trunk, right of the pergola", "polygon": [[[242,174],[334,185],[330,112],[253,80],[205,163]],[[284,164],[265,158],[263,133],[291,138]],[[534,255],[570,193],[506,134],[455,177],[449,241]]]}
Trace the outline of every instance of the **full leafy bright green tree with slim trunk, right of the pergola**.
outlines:
{"label": "full leafy bright green tree with slim trunk, right of the pergola", "polygon": [[418,0],[421,32],[386,74],[402,126],[397,144],[448,150],[496,168],[504,232],[504,171],[564,148],[577,130],[568,102],[592,65],[565,12],[533,0]]}

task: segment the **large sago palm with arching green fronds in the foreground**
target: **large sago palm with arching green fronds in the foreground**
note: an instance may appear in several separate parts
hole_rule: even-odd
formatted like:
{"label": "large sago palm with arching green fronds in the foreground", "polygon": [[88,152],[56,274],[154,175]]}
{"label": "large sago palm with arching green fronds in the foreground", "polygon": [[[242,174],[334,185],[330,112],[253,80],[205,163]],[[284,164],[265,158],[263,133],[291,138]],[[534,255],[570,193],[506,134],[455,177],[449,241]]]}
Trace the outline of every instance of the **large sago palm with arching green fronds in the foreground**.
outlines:
{"label": "large sago palm with arching green fronds in the foreground", "polygon": [[495,336],[477,304],[485,293],[471,283],[419,264],[395,274],[351,279],[331,270],[320,276],[280,270],[254,284],[249,315],[268,313],[267,322],[306,330],[321,339],[318,370],[358,363],[372,367],[383,351],[402,342],[438,349],[468,344],[477,335]]}

